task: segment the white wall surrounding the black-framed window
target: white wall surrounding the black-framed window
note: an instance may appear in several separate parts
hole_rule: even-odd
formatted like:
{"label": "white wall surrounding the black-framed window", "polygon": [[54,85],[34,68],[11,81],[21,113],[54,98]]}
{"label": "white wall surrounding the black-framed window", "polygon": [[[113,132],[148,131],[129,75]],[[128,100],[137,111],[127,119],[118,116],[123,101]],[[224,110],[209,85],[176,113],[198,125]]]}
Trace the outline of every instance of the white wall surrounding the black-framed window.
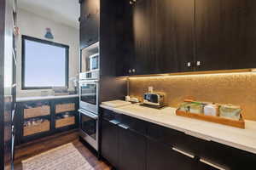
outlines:
{"label": "white wall surrounding the black-framed window", "polygon": [[[44,19],[24,9],[18,9],[17,15],[17,25],[20,27],[20,36],[17,44],[17,97],[38,96],[41,95],[42,91],[21,89],[21,35],[46,39],[44,38],[45,28],[49,27],[54,35],[53,42],[69,46],[69,77],[79,74],[79,29]],[[73,89],[72,82],[69,82],[69,89]],[[44,89],[43,91],[46,90]],[[51,92],[51,90],[48,91],[49,93]]]}

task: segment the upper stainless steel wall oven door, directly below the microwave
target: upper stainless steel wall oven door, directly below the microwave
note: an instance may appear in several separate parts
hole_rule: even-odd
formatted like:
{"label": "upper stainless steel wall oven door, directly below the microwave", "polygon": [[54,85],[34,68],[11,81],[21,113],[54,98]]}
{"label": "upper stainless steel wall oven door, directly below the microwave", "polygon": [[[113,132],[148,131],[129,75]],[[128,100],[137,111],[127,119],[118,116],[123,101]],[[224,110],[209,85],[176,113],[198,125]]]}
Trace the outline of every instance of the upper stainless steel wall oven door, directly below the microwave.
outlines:
{"label": "upper stainless steel wall oven door, directly below the microwave", "polygon": [[79,104],[80,109],[98,114],[98,80],[79,81]]}

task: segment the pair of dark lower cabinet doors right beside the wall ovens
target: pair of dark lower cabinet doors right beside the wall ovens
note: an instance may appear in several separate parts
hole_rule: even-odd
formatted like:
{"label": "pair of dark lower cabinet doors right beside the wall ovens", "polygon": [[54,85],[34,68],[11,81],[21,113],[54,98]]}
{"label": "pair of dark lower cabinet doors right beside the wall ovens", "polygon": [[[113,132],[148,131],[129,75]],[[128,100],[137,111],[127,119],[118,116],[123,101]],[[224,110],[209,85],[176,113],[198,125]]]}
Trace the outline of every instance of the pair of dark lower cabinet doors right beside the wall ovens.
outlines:
{"label": "pair of dark lower cabinet doors right beside the wall ovens", "polygon": [[146,169],[146,138],[102,119],[102,156],[122,170]]}

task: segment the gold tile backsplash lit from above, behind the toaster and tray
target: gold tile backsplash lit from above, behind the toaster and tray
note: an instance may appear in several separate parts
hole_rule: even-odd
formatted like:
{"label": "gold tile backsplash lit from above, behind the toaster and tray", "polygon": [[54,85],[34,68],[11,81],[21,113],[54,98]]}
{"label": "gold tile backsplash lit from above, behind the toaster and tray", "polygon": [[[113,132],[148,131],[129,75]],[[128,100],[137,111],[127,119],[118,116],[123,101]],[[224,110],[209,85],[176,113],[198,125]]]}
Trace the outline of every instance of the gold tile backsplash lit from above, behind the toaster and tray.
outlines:
{"label": "gold tile backsplash lit from above, behind the toaster and tray", "polygon": [[168,77],[130,77],[129,94],[143,99],[153,87],[166,94],[166,105],[177,107],[183,99],[241,105],[243,116],[256,121],[256,73],[224,73]]}

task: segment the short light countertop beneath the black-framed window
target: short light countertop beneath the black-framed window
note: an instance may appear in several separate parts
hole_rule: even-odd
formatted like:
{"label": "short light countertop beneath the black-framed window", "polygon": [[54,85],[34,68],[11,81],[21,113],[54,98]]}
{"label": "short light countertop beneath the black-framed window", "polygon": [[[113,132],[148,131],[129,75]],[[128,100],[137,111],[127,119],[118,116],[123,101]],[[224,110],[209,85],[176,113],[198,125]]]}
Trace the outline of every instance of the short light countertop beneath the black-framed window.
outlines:
{"label": "short light countertop beneath the black-framed window", "polygon": [[34,97],[21,97],[17,98],[17,102],[24,102],[24,101],[32,101],[32,100],[41,100],[41,99],[64,99],[64,98],[75,98],[79,97],[79,94],[71,94],[71,95],[49,95],[49,96],[34,96]]}

